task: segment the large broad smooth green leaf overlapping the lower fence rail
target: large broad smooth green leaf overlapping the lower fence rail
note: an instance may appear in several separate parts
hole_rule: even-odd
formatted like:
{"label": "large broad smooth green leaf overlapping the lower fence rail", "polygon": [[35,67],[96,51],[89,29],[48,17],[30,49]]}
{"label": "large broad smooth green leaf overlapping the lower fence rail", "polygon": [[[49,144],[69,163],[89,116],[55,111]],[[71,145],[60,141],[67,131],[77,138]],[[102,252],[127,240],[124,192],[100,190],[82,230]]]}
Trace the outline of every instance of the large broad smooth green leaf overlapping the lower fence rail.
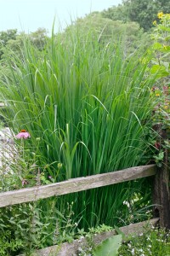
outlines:
{"label": "large broad smooth green leaf overlapping the lower fence rail", "polygon": [[116,256],[122,244],[122,235],[111,236],[94,249],[94,256]]}

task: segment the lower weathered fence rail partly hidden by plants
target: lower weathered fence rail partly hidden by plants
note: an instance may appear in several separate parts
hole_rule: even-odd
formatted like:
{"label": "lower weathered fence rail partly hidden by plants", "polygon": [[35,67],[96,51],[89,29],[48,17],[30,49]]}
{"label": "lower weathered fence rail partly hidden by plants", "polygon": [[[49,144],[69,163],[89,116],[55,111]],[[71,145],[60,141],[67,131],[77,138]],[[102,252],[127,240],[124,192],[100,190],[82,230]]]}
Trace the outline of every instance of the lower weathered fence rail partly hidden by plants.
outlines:
{"label": "lower weathered fence rail partly hidden by plants", "polygon": [[[146,227],[150,228],[150,226],[156,226],[158,224],[159,218],[152,218],[148,221],[143,221],[137,224],[129,224],[125,227],[120,228],[125,235],[135,234],[139,235],[144,232]],[[116,230],[106,231],[101,234],[97,234],[94,236],[94,244],[98,245],[101,241],[116,235]],[[93,238],[92,238],[93,239]],[[71,243],[64,242],[59,246],[46,247],[41,250],[37,250],[37,252],[31,254],[32,256],[73,256],[78,255],[79,247],[89,247],[88,241],[86,238],[74,240]],[[24,256],[25,254],[21,254],[19,256]]]}

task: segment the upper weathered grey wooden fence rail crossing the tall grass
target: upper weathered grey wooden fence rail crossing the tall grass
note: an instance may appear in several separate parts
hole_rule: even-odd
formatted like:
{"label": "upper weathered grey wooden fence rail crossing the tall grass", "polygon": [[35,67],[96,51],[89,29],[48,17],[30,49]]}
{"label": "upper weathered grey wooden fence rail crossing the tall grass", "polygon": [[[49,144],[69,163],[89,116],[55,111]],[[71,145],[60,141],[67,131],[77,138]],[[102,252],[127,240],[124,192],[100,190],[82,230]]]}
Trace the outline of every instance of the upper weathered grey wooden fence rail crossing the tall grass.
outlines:
{"label": "upper weathered grey wooden fence rail crossing the tall grass", "polygon": [[0,207],[37,201],[54,195],[66,195],[82,190],[95,189],[153,175],[156,175],[156,165],[137,166],[116,172],[71,178],[64,182],[3,192],[0,193]]}

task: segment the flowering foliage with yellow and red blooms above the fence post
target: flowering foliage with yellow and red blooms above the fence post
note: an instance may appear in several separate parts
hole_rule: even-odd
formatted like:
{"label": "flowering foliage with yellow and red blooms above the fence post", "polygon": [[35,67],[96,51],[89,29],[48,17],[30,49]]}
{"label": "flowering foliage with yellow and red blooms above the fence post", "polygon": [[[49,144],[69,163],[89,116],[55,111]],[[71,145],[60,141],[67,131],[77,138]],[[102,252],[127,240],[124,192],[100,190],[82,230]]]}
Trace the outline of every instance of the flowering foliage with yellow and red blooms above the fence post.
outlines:
{"label": "flowering foliage with yellow and red blooms above the fence post", "polygon": [[[153,22],[155,29],[152,34],[154,43],[151,47],[153,57],[151,59],[150,74],[156,77],[156,84],[151,90],[151,97],[155,103],[151,116],[153,132],[151,136],[155,137],[152,144],[155,148],[154,159],[156,165],[161,167],[165,159],[165,150],[169,152],[169,127],[170,127],[170,15],[158,13],[159,22]],[[155,131],[154,131],[155,130]],[[168,153],[167,153],[168,155]]]}

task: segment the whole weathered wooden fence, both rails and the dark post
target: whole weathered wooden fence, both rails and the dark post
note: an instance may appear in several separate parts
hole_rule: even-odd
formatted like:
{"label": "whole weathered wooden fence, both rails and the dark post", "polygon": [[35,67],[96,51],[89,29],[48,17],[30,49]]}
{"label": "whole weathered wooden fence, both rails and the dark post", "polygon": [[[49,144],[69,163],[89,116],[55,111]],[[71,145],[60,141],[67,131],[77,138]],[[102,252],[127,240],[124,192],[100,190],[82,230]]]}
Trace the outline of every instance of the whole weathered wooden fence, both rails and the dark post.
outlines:
{"label": "whole weathered wooden fence, both rails and the dark post", "polygon": [[[8,191],[0,193],[0,207],[12,206],[29,201],[37,201],[39,199],[48,198],[50,196],[66,195],[82,190],[99,188],[115,183],[122,183],[125,181],[135,180],[141,177],[153,177],[153,204],[157,204],[154,212],[154,217],[150,220],[150,224],[154,225],[160,221],[162,227],[170,229],[170,196],[169,196],[169,185],[168,185],[168,166],[157,168],[156,165],[149,166],[137,166],[127,168],[122,171],[108,172],[104,174],[93,175],[89,177],[77,177],[72,178],[60,183],[51,183],[43,186],[36,186],[26,189],[18,189],[14,191]],[[162,188],[163,191],[159,191]],[[162,200],[162,193],[166,193],[166,199]],[[121,229],[125,234],[129,232],[141,232],[144,224],[148,222],[142,222],[139,224],[131,224]],[[95,243],[104,240],[109,236],[113,236],[115,231],[105,232],[95,238]],[[86,243],[86,241],[83,241]],[[82,244],[82,241],[81,241]],[[37,251],[36,255],[72,255],[77,251],[79,243],[74,241],[72,244],[64,243],[62,246],[48,247]],[[56,254],[56,250],[58,253]]]}

